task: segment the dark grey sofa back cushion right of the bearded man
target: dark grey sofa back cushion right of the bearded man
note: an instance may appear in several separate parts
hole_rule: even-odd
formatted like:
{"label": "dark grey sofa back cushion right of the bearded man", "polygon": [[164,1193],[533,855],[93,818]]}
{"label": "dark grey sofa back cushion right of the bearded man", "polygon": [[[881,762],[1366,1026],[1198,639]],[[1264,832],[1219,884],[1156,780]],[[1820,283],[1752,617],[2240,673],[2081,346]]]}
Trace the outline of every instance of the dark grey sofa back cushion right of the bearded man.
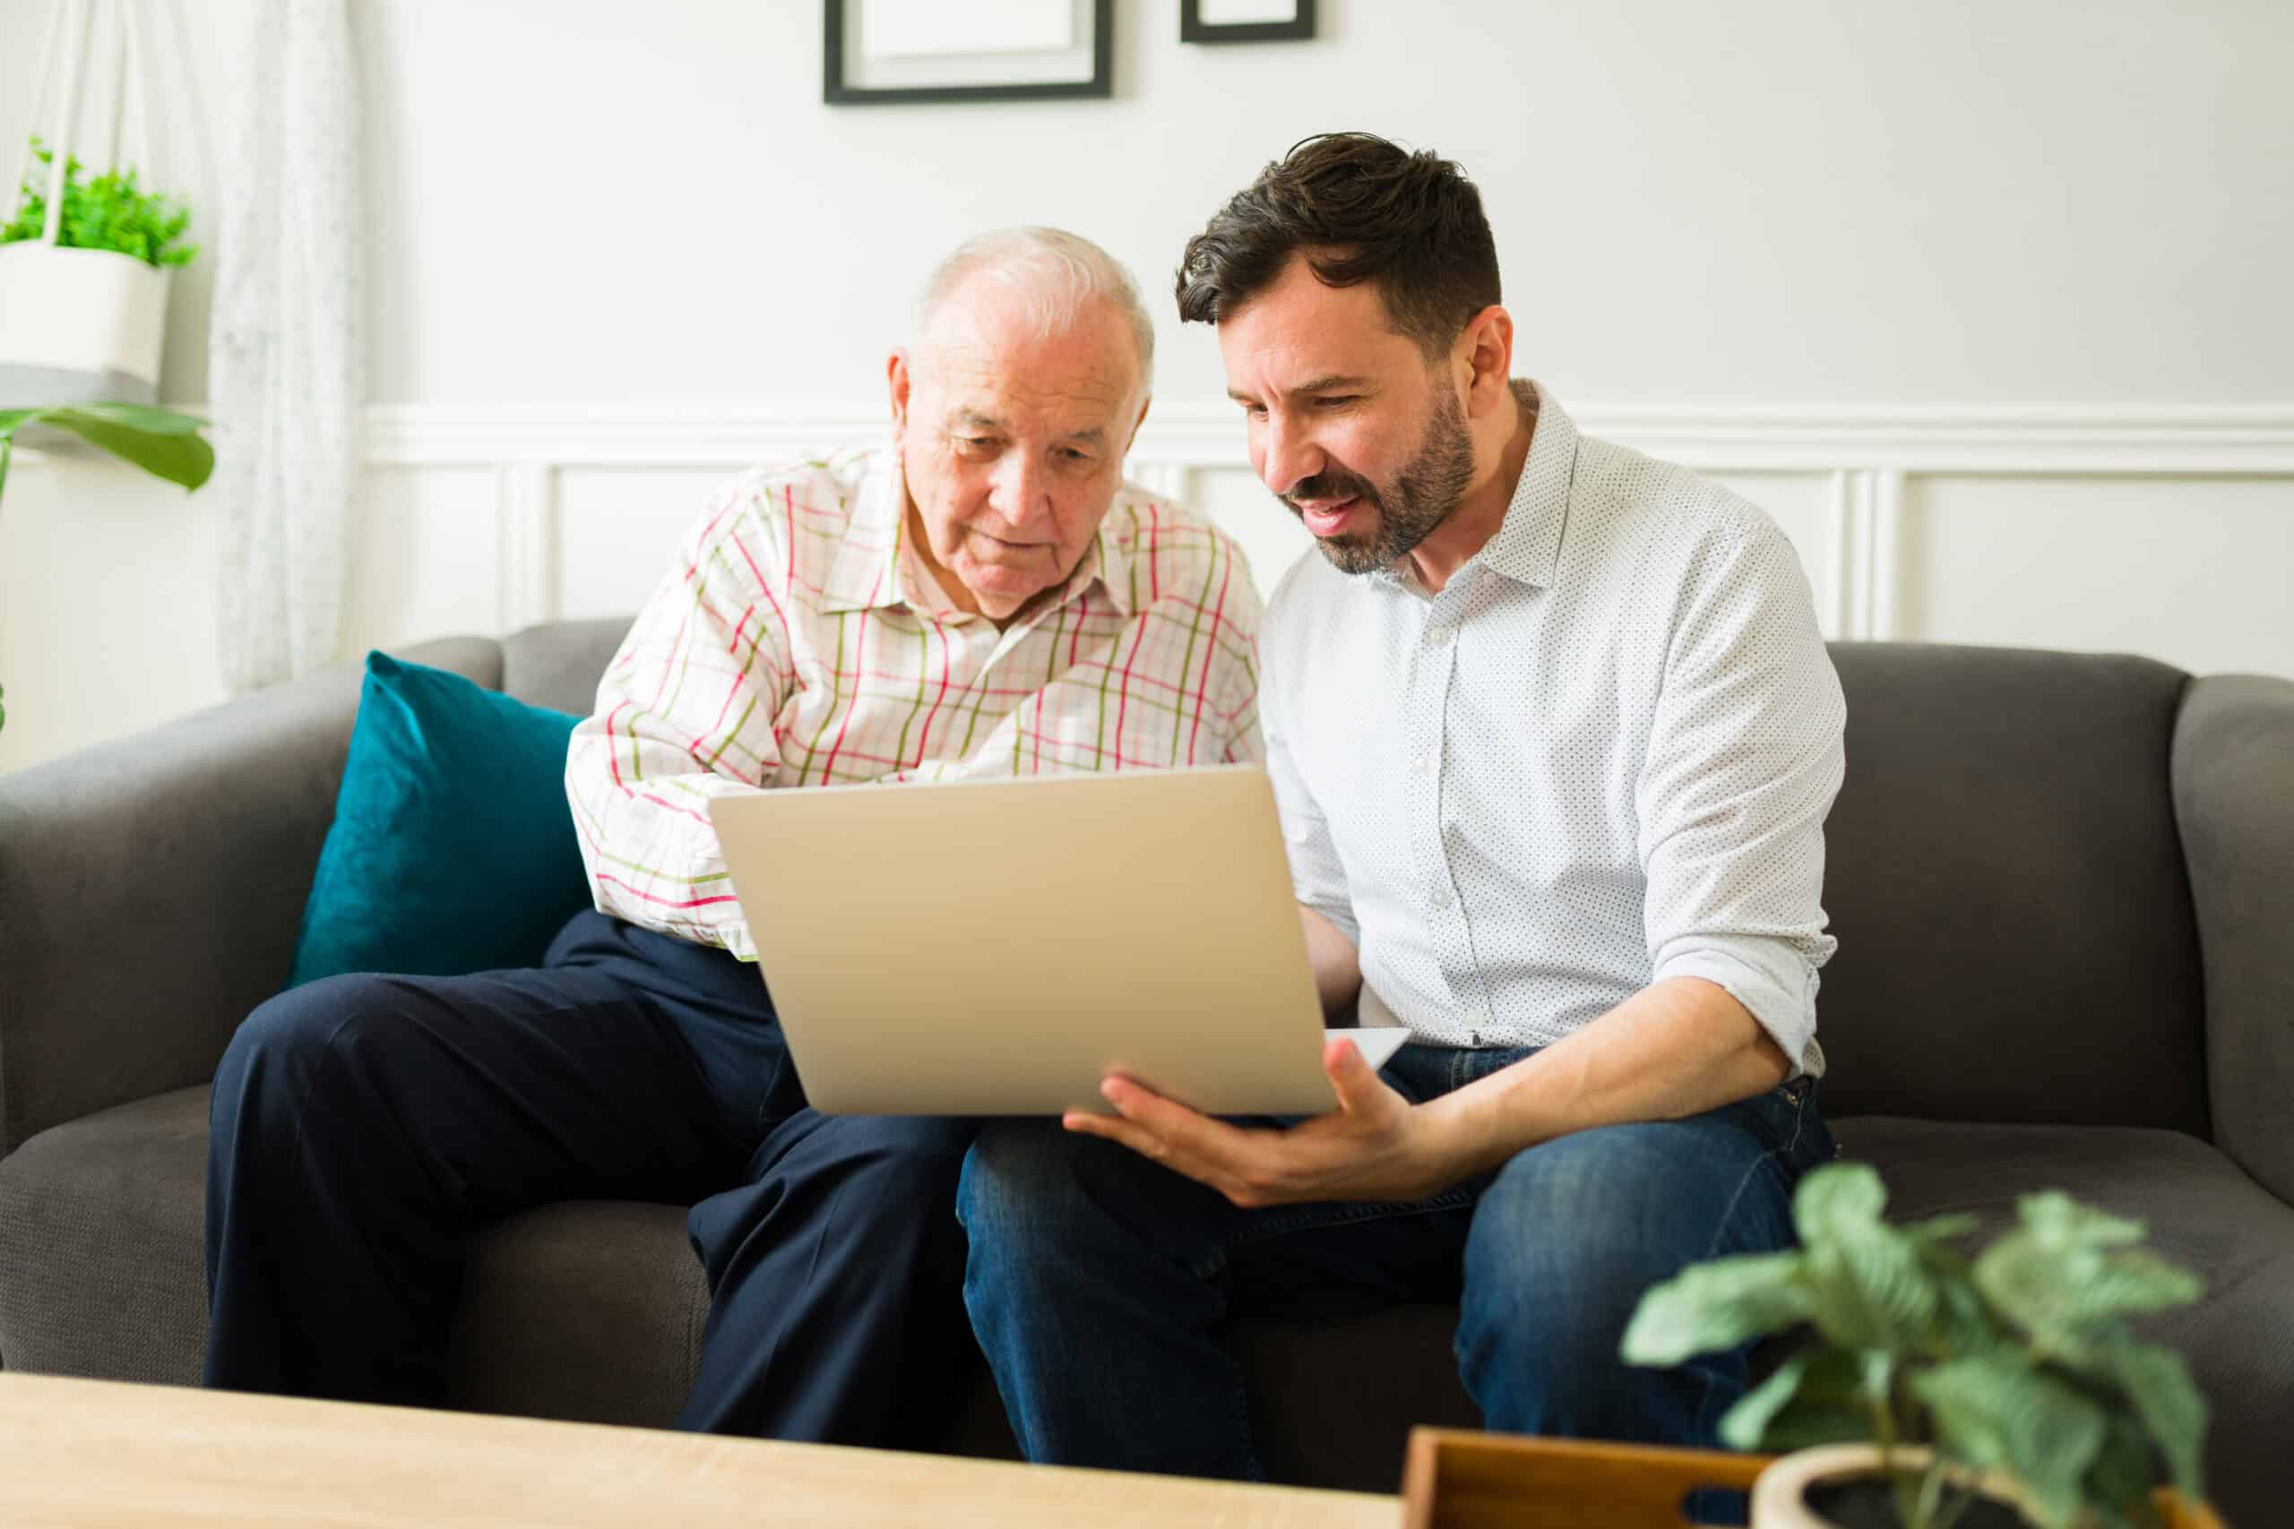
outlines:
{"label": "dark grey sofa back cushion right of the bearded man", "polygon": [[2198,926],[2147,658],[1835,642],[1824,1107],[2207,1135]]}

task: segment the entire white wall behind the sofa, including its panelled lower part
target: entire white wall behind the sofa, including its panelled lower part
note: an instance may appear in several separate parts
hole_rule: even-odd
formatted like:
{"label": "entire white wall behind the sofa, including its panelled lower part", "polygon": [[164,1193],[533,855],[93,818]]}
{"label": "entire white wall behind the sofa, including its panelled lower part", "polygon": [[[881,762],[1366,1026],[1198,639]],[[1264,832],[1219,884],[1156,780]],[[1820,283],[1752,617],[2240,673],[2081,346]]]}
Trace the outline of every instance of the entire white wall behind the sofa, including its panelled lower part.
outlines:
{"label": "entire white wall behind the sofa, including its panelled lower part", "polygon": [[[243,0],[193,9],[211,110]],[[865,431],[920,270],[1016,220],[1133,264],[1154,470],[1285,557],[1161,291],[1259,163],[1363,126],[1475,174],[1521,369],[1730,472],[1831,630],[2294,674],[2294,7],[1324,0],[1317,41],[1239,48],[1115,9],[1115,101],[830,110],[814,0],[353,0],[381,408],[346,651],[626,610],[711,475]],[[41,18],[0,0],[0,147]],[[213,509],[16,470],[0,768],[220,695]]]}

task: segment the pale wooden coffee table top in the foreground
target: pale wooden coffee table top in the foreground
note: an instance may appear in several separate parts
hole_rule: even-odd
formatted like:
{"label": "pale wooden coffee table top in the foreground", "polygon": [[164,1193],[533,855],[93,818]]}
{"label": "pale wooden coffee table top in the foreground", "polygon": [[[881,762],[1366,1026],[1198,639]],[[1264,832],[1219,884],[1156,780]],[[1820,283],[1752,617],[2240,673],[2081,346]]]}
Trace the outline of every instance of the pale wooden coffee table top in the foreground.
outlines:
{"label": "pale wooden coffee table top in the foreground", "polygon": [[0,1524],[1397,1529],[1402,1501],[0,1373]]}

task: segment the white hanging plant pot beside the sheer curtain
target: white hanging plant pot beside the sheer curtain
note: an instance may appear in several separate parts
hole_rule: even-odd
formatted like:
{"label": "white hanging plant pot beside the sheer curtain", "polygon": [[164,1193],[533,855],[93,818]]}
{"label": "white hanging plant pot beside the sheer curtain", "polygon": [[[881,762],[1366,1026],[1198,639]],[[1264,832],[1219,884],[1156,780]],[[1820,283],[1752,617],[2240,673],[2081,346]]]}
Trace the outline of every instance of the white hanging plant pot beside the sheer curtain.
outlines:
{"label": "white hanging plant pot beside the sheer curtain", "polygon": [[0,245],[0,408],[154,403],[167,275],[115,250]]}

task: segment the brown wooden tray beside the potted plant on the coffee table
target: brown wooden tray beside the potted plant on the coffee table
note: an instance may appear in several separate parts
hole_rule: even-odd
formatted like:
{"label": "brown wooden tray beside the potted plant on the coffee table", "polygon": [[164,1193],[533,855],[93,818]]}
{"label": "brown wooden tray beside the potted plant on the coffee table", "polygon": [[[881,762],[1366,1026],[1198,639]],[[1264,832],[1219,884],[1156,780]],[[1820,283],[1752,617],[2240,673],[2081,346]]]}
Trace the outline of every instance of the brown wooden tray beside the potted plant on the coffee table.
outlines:
{"label": "brown wooden tray beside the potted plant on the coffee table", "polygon": [[[1684,1529],[1698,1488],[1750,1492],[1776,1456],[1654,1444],[1530,1440],[1411,1428],[1402,1467],[1404,1529]],[[2225,1529],[2207,1506],[2159,1492],[2166,1529]]]}

